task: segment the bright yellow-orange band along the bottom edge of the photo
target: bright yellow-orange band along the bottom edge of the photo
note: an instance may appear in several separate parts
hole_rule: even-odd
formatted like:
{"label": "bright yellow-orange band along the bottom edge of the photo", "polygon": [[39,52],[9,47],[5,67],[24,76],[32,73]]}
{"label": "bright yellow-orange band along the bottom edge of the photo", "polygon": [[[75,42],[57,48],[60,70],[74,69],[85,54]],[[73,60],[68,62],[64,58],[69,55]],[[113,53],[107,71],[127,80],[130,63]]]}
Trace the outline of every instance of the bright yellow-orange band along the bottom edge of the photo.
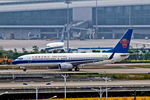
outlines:
{"label": "bright yellow-orange band along the bottom edge of the photo", "polygon": [[[35,99],[33,99],[35,100]],[[38,99],[38,100],[51,100],[51,99]],[[94,98],[60,98],[53,100],[100,100],[99,97]],[[102,100],[106,100],[106,97],[103,97]],[[142,97],[108,97],[108,100],[150,100],[150,96],[142,96]]]}

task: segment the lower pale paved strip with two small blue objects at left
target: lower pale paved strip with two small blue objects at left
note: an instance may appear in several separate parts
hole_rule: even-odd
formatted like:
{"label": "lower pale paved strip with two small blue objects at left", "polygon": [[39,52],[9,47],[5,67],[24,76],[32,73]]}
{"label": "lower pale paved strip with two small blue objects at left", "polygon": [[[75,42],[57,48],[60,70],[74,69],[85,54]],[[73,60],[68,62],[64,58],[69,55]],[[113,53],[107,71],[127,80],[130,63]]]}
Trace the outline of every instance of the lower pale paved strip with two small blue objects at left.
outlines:
{"label": "lower pale paved strip with two small blue objects at left", "polygon": [[[26,85],[24,85],[26,83]],[[49,82],[50,85],[47,85],[48,82],[8,82],[8,83],[0,83],[0,89],[3,88],[22,88],[22,87],[64,87],[64,82]],[[70,82],[66,83],[67,87],[94,87],[94,86],[105,86],[105,81],[78,81],[78,82]],[[118,86],[118,87],[126,87],[126,86],[150,86],[150,80],[123,80],[123,81],[109,81],[108,86]]]}

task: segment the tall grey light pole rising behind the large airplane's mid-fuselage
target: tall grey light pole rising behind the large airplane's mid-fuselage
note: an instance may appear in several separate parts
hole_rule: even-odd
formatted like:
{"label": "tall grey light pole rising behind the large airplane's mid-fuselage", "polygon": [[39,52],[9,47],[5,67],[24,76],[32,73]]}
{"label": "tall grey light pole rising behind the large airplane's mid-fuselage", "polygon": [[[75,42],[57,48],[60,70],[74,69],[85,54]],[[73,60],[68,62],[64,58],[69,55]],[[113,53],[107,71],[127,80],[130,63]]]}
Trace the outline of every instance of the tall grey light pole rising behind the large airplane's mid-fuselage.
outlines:
{"label": "tall grey light pole rising behind the large airplane's mid-fuselage", "polygon": [[66,27],[66,31],[67,31],[67,52],[69,53],[69,38],[70,38],[70,34],[69,34],[69,4],[71,4],[70,0],[65,0],[65,3],[67,4],[67,27]]}

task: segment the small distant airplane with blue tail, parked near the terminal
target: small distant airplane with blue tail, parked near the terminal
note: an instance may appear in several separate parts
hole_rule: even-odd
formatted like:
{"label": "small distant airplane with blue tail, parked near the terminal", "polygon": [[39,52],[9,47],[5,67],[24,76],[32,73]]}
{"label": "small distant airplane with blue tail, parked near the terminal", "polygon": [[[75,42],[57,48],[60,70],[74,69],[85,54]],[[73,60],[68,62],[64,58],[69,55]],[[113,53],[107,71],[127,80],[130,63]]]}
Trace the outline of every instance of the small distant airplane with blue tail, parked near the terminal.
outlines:
{"label": "small distant airplane with blue tail, parked near the terminal", "polygon": [[48,44],[46,44],[45,49],[52,50],[52,49],[63,48],[64,47],[64,32],[65,32],[65,27],[62,30],[60,42],[48,43]]}

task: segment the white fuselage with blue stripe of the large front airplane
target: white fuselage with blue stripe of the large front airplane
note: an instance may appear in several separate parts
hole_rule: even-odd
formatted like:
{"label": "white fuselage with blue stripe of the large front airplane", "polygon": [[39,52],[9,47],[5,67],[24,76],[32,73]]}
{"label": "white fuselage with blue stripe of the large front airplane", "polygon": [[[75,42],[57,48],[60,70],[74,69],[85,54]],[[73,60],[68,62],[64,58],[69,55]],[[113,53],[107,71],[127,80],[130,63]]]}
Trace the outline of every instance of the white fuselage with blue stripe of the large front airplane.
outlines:
{"label": "white fuselage with blue stripe of the large front airplane", "polygon": [[95,65],[119,62],[128,58],[128,53],[59,53],[59,54],[29,54],[16,59],[13,63],[19,66],[55,66],[62,63],[81,63],[80,65]]}

